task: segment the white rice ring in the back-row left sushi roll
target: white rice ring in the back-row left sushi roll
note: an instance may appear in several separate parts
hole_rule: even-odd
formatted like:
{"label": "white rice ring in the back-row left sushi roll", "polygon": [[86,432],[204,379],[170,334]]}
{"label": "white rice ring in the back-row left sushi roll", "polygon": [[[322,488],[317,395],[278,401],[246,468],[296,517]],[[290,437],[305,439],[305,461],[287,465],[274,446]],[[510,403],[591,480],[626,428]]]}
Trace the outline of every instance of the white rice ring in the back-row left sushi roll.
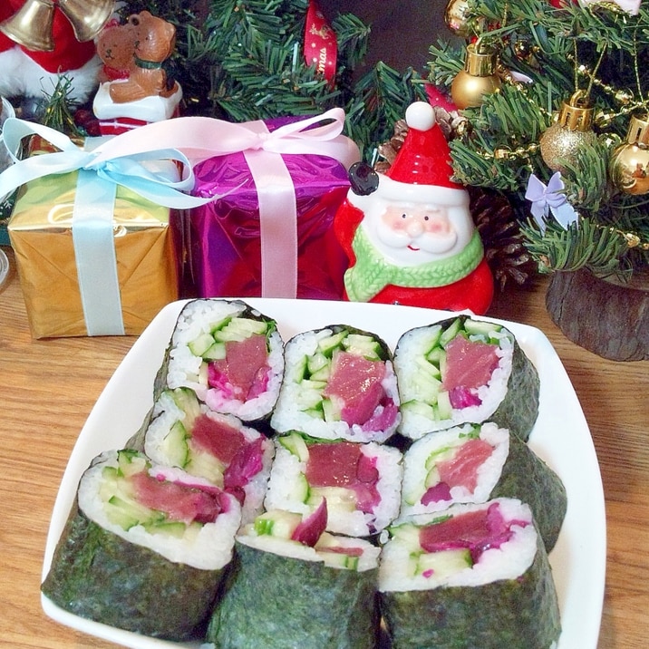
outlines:
{"label": "white rice ring in the back-row left sushi roll", "polygon": [[[201,334],[211,333],[218,323],[244,314],[247,308],[248,305],[241,300],[224,299],[192,300],[185,305],[171,336],[166,383],[170,389],[191,388],[213,411],[234,414],[243,421],[254,421],[267,416],[277,401],[284,373],[284,341],[281,334],[274,331],[269,336],[268,364],[271,375],[266,391],[247,401],[224,398],[217,390],[210,388],[207,363],[189,349],[189,344]],[[261,315],[256,310],[251,313]]]}

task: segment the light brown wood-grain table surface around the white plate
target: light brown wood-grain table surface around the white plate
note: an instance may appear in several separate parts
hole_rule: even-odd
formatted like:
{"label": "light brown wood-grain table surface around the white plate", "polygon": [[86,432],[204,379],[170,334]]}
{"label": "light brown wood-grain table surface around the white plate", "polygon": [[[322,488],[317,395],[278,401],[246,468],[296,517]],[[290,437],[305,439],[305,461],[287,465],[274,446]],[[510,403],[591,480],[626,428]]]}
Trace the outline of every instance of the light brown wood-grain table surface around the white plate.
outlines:
{"label": "light brown wood-grain table surface around the white plate", "polygon": [[[11,250],[0,286],[0,646],[111,647],[44,615],[40,582],[53,502],[74,441],[134,337],[36,341]],[[510,287],[489,311],[532,324],[564,363],[604,482],[607,566],[598,649],[649,646],[649,362],[615,363],[570,343],[545,310],[545,282]],[[53,290],[55,286],[53,286]],[[571,647],[570,649],[583,649]]]}

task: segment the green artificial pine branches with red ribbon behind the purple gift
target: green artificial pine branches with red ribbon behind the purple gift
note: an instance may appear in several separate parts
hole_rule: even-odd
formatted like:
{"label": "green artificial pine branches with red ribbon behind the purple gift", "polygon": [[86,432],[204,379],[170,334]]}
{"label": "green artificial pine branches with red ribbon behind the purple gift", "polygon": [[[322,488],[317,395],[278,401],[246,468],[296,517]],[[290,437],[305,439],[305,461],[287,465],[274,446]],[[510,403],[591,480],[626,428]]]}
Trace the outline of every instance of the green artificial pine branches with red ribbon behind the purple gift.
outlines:
{"label": "green artificial pine branches with red ribbon behind the purple gift", "polygon": [[324,15],[314,0],[128,0],[120,14],[142,10],[176,26],[168,74],[182,85],[186,114],[241,122],[340,107],[345,134],[376,160],[395,121],[426,96],[411,67],[379,62],[359,73],[370,27],[349,13]]}

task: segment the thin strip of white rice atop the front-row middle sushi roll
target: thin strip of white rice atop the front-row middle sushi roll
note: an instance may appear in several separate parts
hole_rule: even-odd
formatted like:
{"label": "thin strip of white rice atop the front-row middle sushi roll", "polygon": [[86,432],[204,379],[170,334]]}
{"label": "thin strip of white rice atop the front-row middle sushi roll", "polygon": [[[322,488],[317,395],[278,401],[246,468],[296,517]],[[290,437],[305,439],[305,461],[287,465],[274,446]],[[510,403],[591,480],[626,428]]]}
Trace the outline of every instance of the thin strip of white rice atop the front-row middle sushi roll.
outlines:
{"label": "thin strip of white rice atop the front-row middle sushi roll", "polygon": [[[335,545],[341,547],[361,547],[363,549],[363,554],[358,557],[358,564],[354,568],[356,572],[364,572],[378,567],[379,555],[381,554],[380,547],[374,546],[362,538],[346,538],[341,536],[332,538],[335,539]],[[302,543],[287,538],[270,537],[268,535],[257,536],[254,532],[247,531],[247,533],[239,534],[237,541],[248,547],[254,547],[262,552],[271,552],[280,557],[324,563],[324,557],[321,556],[315,547],[305,546]],[[333,568],[342,569],[338,567]]]}

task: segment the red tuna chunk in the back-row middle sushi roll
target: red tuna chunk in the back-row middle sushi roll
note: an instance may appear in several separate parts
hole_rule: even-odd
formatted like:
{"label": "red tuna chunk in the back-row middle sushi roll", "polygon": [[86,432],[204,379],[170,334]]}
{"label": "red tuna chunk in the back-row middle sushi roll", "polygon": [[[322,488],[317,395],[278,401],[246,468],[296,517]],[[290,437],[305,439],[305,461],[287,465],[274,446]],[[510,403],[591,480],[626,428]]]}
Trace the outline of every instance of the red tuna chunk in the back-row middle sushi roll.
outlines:
{"label": "red tuna chunk in the back-row middle sushi roll", "polygon": [[332,375],[324,396],[337,397],[343,403],[341,418],[350,426],[368,421],[383,401],[385,366],[363,356],[340,352],[335,355]]}

